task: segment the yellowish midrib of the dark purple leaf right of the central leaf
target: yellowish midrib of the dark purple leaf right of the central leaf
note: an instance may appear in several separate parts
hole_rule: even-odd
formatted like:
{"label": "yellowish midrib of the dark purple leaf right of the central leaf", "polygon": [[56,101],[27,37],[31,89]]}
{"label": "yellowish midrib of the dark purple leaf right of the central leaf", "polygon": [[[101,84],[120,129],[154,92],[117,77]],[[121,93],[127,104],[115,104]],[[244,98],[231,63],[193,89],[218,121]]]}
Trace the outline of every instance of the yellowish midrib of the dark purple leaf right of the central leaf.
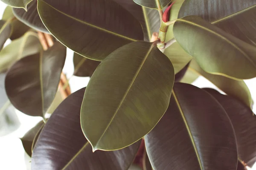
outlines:
{"label": "yellowish midrib of the dark purple leaf right of the central leaf", "polygon": [[201,163],[201,159],[200,159],[198,150],[197,150],[196,145],[195,145],[195,140],[194,140],[194,138],[193,138],[193,136],[192,136],[191,130],[190,130],[189,125],[188,125],[188,123],[187,123],[187,121],[186,121],[186,118],[185,118],[185,116],[184,116],[184,113],[183,113],[183,111],[182,111],[182,108],[181,108],[181,106],[180,106],[180,103],[178,102],[178,99],[177,99],[177,96],[175,95],[174,90],[172,90],[172,95],[173,95],[173,97],[174,97],[174,99],[175,99],[175,102],[176,102],[176,104],[177,104],[177,107],[178,107],[178,109],[179,109],[179,111],[180,111],[180,114],[181,114],[181,116],[182,116],[182,119],[183,119],[183,122],[184,122],[184,124],[185,124],[185,126],[186,126],[186,129],[187,129],[187,131],[188,131],[188,133],[189,133],[189,137],[190,137],[191,142],[192,142],[192,145],[193,145],[193,147],[194,147],[195,154],[196,154],[196,157],[197,157],[197,159],[198,159],[199,166],[200,166],[201,170],[203,170],[203,165],[202,165],[202,163]]}

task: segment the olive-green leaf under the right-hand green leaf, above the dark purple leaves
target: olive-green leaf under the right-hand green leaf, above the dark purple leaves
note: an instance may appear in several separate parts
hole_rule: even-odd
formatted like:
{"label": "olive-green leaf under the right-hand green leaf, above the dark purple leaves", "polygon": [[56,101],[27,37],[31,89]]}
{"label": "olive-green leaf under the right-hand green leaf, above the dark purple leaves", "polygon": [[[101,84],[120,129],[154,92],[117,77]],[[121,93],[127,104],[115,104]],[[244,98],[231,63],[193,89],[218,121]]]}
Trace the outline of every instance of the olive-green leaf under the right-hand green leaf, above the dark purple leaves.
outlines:
{"label": "olive-green leaf under the right-hand green leaf, above the dark purple leaves", "polygon": [[224,76],[209,74],[205,72],[194,59],[189,65],[189,70],[195,74],[205,77],[227,95],[239,99],[249,108],[251,108],[253,104],[252,96],[250,94],[249,88],[243,80],[237,81]]}

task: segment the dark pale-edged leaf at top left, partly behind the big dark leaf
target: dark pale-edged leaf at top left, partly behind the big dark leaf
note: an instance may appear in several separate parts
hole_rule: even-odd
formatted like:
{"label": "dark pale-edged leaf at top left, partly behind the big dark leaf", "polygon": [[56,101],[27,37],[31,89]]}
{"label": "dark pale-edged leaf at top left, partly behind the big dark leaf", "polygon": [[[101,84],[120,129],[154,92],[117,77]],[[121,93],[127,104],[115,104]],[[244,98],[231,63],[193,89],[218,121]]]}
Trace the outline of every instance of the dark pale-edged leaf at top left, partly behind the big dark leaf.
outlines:
{"label": "dark pale-edged leaf at top left, partly behind the big dark leaf", "polygon": [[13,14],[15,17],[26,24],[27,26],[41,32],[49,33],[47,28],[45,28],[42,23],[38,10],[37,10],[37,0],[32,1],[28,5],[28,11],[24,11],[21,8],[13,8]]}

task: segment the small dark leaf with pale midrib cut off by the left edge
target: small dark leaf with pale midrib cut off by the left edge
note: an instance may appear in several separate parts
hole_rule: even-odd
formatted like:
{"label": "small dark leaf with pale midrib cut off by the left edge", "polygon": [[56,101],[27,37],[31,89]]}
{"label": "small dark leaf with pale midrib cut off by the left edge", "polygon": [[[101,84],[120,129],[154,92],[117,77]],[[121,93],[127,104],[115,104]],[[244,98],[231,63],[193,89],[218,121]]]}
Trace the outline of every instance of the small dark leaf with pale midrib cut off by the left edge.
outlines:
{"label": "small dark leaf with pale midrib cut off by the left edge", "polygon": [[12,34],[11,20],[0,20],[0,50],[2,50],[4,43]]}

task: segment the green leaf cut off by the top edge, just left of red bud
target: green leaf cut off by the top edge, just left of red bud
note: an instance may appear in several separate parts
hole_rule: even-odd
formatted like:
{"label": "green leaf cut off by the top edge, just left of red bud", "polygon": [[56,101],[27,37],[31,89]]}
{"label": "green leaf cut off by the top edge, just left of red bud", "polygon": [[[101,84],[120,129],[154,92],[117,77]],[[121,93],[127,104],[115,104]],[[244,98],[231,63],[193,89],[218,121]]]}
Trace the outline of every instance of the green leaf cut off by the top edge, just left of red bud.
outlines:
{"label": "green leaf cut off by the top edge, just left of red bud", "polygon": [[165,6],[171,3],[172,0],[133,0],[133,1],[147,8],[163,9]]}

